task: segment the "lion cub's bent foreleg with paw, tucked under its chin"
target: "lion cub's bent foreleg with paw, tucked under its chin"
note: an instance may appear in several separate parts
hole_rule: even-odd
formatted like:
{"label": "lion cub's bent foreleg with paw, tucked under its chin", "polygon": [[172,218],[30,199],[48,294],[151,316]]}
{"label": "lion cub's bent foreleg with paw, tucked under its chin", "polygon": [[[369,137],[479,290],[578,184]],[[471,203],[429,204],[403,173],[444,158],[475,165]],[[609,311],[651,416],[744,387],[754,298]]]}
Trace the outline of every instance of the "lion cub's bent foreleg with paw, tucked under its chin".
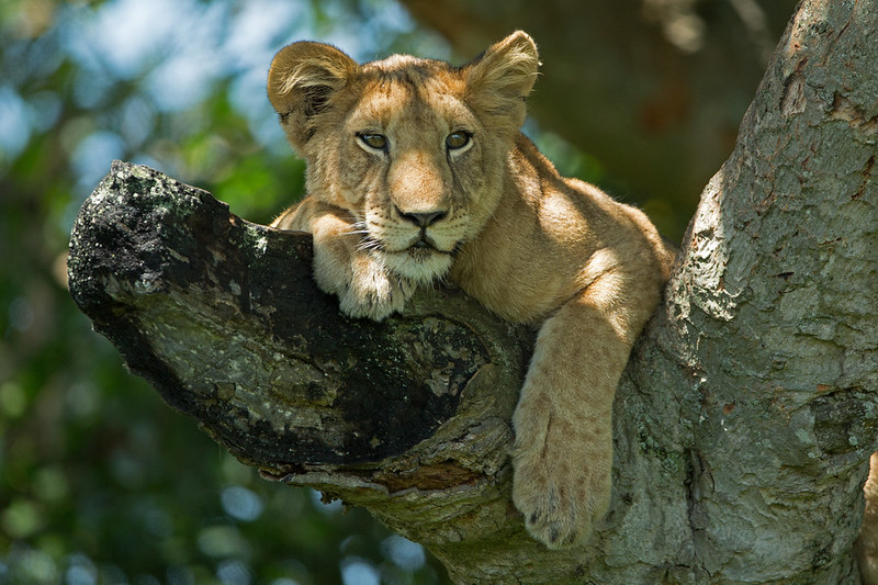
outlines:
{"label": "lion cub's bent foreleg with paw, tucked under its chin", "polygon": [[322,291],[338,296],[346,315],[381,320],[402,311],[415,290],[363,246],[361,228],[344,210],[306,198],[271,225],[314,236],[314,280]]}

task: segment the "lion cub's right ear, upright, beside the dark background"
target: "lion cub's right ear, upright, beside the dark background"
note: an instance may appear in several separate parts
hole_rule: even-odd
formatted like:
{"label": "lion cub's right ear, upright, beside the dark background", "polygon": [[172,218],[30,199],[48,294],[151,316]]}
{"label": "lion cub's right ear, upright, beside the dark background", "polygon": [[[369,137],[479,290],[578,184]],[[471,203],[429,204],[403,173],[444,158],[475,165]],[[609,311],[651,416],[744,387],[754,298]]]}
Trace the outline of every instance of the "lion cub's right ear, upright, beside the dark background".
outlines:
{"label": "lion cub's right ear, upright, beside the dark background", "polygon": [[471,105],[496,127],[525,123],[525,98],[537,81],[540,59],[533,40],[516,31],[463,67]]}

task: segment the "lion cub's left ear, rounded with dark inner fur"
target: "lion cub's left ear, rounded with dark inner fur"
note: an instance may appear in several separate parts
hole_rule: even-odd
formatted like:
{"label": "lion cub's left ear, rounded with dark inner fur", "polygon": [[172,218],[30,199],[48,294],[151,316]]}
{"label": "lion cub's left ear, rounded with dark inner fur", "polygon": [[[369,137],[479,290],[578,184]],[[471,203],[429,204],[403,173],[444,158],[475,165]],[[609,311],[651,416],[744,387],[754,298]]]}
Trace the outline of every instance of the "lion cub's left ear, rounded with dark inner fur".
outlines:
{"label": "lion cub's left ear, rounded with dark inner fur", "polygon": [[312,119],[359,70],[357,61],[323,43],[302,41],[278,52],[268,72],[268,99],[294,148],[314,134]]}

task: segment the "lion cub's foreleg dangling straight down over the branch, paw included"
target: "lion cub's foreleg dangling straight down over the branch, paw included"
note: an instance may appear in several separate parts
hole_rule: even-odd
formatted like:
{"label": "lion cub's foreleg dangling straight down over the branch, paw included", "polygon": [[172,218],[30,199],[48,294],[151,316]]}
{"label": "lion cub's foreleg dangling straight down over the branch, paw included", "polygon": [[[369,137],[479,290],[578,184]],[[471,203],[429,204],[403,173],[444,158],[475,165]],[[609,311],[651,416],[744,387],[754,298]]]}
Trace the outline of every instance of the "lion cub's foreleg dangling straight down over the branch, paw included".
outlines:
{"label": "lion cub's foreleg dangling straight down over the branch, paw included", "polygon": [[605,274],[540,329],[514,416],[513,499],[549,548],[582,542],[609,506],[614,396],[651,308],[638,289]]}

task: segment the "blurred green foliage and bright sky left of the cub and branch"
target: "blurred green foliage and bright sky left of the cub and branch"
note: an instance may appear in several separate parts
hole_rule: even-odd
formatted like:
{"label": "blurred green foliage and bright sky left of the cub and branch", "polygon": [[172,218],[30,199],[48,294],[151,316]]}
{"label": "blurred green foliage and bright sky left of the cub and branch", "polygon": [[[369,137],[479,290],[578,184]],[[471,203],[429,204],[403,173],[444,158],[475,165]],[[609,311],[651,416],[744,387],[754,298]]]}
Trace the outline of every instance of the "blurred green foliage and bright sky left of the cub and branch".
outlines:
{"label": "blurred green foliage and bright sky left of the cub and branch", "polygon": [[0,583],[447,582],[363,510],[235,461],[66,291],[72,220],[112,158],[255,222],[301,195],[262,85],[304,36],[369,38],[363,58],[439,46],[386,1],[0,2]]}

